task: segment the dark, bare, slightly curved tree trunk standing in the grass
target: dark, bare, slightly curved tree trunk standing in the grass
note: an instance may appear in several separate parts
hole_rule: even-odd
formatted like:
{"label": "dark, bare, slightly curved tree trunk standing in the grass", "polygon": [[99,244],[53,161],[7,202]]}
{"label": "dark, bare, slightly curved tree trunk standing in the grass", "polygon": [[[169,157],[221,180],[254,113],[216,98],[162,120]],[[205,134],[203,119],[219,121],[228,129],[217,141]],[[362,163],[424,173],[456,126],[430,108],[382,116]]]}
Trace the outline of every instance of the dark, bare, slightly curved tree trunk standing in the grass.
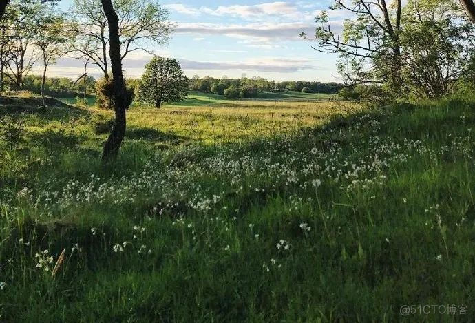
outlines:
{"label": "dark, bare, slightly curved tree trunk standing in the grass", "polygon": [[112,132],[107,138],[103,149],[103,161],[114,160],[125,136],[125,114],[129,108],[125,81],[122,73],[122,55],[120,54],[119,17],[112,6],[112,0],[101,0],[109,27],[109,55],[112,67],[112,101],[114,102],[115,121]]}

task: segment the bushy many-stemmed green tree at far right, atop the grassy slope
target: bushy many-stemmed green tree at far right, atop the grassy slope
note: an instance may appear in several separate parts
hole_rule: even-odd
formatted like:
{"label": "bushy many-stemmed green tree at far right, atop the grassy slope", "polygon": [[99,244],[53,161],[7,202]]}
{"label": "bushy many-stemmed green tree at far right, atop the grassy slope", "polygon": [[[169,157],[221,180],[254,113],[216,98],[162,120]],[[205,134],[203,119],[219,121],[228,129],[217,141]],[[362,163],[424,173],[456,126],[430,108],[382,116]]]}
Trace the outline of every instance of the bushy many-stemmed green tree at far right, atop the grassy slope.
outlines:
{"label": "bushy many-stemmed green tree at far right, atop the grassy slope", "polygon": [[402,76],[412,94],[443,96],[465,74],[465,56],[471,50],[464,32],[473,26],[458,16],[450,1],[408,0],[403,8]]}

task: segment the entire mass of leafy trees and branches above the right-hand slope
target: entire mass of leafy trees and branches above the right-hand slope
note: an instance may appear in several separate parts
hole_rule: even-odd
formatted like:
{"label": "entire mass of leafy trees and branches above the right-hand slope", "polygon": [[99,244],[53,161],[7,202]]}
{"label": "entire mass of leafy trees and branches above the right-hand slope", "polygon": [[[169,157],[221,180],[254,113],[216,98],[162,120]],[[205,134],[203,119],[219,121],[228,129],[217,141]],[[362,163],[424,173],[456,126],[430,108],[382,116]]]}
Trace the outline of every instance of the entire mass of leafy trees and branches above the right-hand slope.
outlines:
{"label": "entire mass of leafy trees and branches above the right-hand slope", "polygon": [[341,38],[327,12],[317,17],[320,52],[339,54],[338,69],[348,85],[381,84],[384,96],[437,98],[450,94],[473,68],[474,25],[454,1],[411,0],[377,3],[335,0],[331,10],[355,14]]}

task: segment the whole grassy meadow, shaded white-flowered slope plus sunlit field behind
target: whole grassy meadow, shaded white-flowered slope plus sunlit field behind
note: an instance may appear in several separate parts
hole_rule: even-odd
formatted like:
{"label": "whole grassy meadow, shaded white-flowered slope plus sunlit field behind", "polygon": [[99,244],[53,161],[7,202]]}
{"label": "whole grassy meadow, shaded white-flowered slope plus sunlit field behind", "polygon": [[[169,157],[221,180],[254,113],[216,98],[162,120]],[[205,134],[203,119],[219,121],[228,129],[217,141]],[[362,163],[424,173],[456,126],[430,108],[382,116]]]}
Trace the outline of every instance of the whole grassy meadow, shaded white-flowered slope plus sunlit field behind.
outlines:
{"label": "whole grassy meadow, shaded white-flowered slope plus sunlit field behind", "polygon": [[191,103],[132,108],[109,166],[108,112],[0,107],[2,321],[472,320],[474,98]]}

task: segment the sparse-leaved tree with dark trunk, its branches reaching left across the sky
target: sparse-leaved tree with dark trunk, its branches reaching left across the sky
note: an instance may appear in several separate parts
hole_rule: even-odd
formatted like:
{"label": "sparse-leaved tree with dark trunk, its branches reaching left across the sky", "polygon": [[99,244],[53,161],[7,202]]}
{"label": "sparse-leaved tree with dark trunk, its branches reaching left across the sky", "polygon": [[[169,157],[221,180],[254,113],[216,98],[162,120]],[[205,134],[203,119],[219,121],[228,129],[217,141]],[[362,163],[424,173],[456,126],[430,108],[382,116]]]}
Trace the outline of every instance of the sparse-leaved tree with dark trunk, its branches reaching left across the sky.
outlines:
{"label": "sparse-leaved tree with dark trunk, its branches reaching left across the sky", "polygon": [[[331,10],[345,10],[355,14],[347,19],[343,34],[336,34],[322,12],[317,17],[315,37],[303,37],[318,42],[319,52],[340,55],[339,72],[347,84],[375,82],[386,79],[389,87],[399,93],[401,89],[401,33],[402,1],[388,6],[386,0],[335,0]],[[369,67],[369,68],[367,68]]]}

